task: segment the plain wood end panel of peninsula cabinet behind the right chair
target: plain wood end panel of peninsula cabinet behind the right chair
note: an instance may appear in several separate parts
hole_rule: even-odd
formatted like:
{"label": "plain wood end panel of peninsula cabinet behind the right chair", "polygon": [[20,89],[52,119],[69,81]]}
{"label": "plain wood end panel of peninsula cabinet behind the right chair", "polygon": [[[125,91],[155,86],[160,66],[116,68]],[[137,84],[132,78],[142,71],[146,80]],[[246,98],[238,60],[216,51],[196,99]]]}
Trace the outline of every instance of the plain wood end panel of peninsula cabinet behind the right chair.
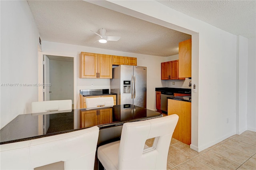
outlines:
{"label": "plain wood end panel of peninsula cabinet behind the right chair", "polygon": [[191,144],[191,102],[168,99],[168,115],[179,116],[172,137],[184,144]]}

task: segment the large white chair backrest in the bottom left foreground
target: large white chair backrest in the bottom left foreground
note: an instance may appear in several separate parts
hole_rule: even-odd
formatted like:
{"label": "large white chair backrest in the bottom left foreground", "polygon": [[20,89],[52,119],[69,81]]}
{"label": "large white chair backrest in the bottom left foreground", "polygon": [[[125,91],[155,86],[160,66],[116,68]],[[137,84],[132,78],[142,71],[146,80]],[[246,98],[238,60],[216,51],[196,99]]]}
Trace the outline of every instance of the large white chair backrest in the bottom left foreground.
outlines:
{"label": "large white chair backrest in the bottom left foreground", "polygon": [[26,169],[64,161],[64,169],[94,169],[97,126],[0,145],[0,169]]}

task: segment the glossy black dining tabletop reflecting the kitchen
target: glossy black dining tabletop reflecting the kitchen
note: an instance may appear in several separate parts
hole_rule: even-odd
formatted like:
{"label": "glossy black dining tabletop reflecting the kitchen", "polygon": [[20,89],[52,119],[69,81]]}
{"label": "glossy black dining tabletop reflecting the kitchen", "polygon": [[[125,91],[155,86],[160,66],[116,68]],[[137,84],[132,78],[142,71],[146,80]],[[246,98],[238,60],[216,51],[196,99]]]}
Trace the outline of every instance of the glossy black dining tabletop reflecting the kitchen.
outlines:
{"label": "glossy black dining tabletop reflecting the kitchen", "polygon": [[[115,105],[113,107],[97,107],[95,109],[73,109],[68,111],[22,114],[18,115],[0,130],[0,144],[31,140],[88,128],[90,127],[88,125],[92,124],[88,124],[91,119],[86,119],[84,114],[100,110],[112,113],[110,123],[97,125],[100,130],[106,130],[110,127],[118,127],[126,122],[142,121],[163,116],[159,112],[130,104]],[[38,129],[40,129],[38,118],[42,115],[49,117],[48,121],[46,121],[49,128],[45,133],[38,134]],[[122,128],[120,128],[120,130],[122,130]]]}

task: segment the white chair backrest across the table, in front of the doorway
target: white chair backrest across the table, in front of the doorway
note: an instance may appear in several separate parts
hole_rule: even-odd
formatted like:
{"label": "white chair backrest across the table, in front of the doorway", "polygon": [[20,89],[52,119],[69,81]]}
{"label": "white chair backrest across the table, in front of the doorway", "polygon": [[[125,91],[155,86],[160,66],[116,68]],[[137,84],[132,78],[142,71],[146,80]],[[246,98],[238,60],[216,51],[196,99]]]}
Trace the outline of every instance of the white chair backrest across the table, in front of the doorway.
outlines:
{"label": "white chair backrest across the table, in front of the doorway", "polygon": [[31,104],[32,113],[64,111],[72,109],[72,100],[36,101]]}

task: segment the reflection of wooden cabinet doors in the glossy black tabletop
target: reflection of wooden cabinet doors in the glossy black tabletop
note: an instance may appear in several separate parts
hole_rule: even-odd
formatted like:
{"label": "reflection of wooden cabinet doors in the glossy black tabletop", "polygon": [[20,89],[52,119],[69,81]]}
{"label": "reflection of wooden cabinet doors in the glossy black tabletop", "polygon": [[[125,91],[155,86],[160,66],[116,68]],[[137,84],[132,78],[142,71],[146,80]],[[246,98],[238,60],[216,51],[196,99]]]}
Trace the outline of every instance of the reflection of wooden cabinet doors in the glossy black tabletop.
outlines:
{"label": "reflection of wooden cabinet doors in the glossy black tabletop", "polygon": [[112,123],[112,108],[80,112],[80,128]]}

